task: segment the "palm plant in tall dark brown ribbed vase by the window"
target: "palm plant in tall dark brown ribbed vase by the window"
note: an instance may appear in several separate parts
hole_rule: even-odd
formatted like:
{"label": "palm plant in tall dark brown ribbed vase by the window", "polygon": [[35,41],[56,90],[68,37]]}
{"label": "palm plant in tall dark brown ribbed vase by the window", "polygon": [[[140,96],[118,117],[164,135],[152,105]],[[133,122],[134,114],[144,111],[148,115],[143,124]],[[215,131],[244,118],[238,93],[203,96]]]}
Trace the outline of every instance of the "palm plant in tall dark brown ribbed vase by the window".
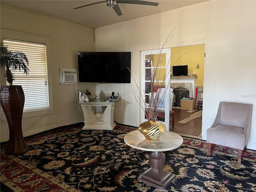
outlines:
{"label": "palm plant in tall dark brown ribbed vase by the window", "polygon": [[22,113],[24,108],[25,96],[20,85],[12,85],[15,80],[14,72],[19,70],[28,75],[28,58],[22,52],[8,50],[0,42],[0,67],[4,70],[4,77],[7,86],[1,86],[1,106],[6,115],[9,126],[9,142],[6,148],[6,154],[19,154],[26,152],[28,146],[22,134]]}

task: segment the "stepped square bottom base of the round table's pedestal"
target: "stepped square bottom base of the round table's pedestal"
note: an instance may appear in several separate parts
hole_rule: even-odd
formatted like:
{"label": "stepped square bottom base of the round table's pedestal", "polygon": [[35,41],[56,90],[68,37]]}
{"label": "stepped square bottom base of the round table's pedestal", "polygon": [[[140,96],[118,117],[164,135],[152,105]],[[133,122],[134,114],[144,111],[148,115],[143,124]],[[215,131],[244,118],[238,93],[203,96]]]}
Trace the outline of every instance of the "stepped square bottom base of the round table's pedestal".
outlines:
{"label": "stepped square bottom base of the round table's pedestal", "polygon": [[149,184],[159,190],[164,190],[176,175],[163,170],[154,170],[150,168],[138,177],[140,182]]}

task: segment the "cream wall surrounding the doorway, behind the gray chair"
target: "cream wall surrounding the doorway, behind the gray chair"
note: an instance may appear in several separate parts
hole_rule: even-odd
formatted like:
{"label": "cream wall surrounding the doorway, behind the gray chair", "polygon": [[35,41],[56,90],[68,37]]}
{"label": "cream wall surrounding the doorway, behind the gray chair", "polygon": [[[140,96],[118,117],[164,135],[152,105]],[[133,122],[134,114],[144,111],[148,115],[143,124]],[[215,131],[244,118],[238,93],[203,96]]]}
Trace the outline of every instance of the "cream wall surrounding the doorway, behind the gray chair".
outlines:
{"label": "cream wall surrounding the doorway, behind the gray chair", "polygon": [[[220,101],[254,104],[248,148],[256,150],[256,1],[208,1],[96,29],[96,51],[132,52],[132,73],[140,82],[140,51],[161,48],[170,31],[180,28],[166,47],[206,44],[202,139]],[[138,126],[140,107],[129,84],[98,84],[118,92],[115,120]],[[138,92],[136,92],[138,94]]]}

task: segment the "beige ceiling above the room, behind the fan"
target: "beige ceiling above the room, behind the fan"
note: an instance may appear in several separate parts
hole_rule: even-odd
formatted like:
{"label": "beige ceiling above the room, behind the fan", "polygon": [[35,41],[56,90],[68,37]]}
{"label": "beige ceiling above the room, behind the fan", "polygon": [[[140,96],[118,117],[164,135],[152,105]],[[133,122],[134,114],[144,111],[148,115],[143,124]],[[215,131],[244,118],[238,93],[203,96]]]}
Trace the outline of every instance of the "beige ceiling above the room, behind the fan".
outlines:
{"label": "beige ceiling above the room, behind the fan", "polygon": [[190,6],[207,0],[147,0],[158,6],[119,4],[122,15],[118,16],[106,3],[73,9],[101,0],[1,0],[1,6],[13,7],[36,14],[56,18],[90,28],[98,28],[118,22],[148,16],[168,10]]}

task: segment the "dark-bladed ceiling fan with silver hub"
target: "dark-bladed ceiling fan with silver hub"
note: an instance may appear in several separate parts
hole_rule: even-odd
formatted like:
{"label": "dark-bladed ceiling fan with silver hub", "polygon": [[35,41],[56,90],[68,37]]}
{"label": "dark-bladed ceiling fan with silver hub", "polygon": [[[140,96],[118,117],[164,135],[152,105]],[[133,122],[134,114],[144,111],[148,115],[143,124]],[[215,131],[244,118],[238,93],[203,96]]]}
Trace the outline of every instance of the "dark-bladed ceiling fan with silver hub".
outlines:
{"label": "dark-bladed ceiling fan with silver hub", "polygon": [[107,3],[108,7],[112,7],[118,16],[122,15],[122,12],[118,6],[118,3],[150,5],[150,6],[158,6],[158,4],[159,4],[159,3],[155,3],[155,2],[140,1],[140,0],[104,0],[104,1],[96,2],[96,3],[92,3],[92,4],[76,7],[73,9],[79,9],[79,8],[83,8],[83,7],[87,7],[87,6],[91,6],[91,5],[95,5],[95,4],[100,4],[100,3],[104,3],[104,2]]}

